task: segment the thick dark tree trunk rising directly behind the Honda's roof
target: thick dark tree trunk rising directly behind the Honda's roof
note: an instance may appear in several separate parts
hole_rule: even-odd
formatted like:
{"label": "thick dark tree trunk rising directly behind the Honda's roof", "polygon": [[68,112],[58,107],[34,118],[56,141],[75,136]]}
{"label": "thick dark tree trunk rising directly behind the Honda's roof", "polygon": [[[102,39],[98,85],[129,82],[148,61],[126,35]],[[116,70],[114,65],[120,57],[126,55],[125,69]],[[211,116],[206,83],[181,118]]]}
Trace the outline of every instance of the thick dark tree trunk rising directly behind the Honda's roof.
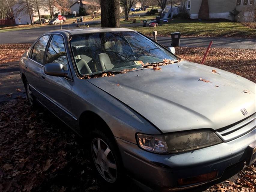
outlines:
{"label": "thick dark tree trunk rising directly behind the Honda's roof", "polygon": [[120,27],[119,0],[100,0],[101,27]]}

